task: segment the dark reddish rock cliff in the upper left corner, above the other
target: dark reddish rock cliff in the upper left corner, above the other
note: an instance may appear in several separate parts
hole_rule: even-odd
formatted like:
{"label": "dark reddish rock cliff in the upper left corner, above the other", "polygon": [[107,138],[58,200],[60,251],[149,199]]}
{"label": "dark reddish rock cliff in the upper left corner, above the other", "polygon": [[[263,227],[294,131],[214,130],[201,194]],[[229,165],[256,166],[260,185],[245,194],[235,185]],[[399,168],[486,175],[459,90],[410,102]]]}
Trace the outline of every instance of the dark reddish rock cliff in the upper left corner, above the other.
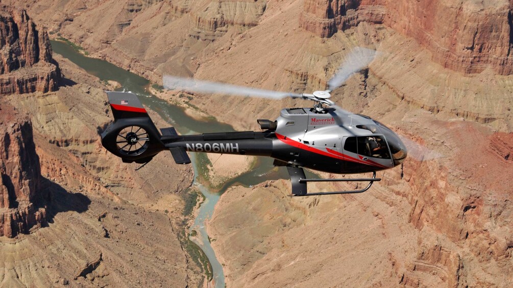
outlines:
{"label": "dark reddish rock cliff in the upper left corner, above the other", "polygon": [[25,10],[0,13],[0,95],[56,90],[61,71],[45,30]]}

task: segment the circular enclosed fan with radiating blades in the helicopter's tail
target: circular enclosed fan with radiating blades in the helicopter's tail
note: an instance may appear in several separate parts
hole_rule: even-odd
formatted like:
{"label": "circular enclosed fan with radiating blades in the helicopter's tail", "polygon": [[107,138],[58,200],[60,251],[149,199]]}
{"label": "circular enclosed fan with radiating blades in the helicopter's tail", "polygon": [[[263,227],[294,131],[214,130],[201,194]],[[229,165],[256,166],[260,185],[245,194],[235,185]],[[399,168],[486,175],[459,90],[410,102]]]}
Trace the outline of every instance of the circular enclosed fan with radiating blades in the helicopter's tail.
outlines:
{"label": "circular enclosed fan with radiating blades in the helicopter's tail", "polygon": [[117,134],[116,145],[119,152],[127,156],[144,153],[148,148],[149,135],[139,126],[125,127]]}

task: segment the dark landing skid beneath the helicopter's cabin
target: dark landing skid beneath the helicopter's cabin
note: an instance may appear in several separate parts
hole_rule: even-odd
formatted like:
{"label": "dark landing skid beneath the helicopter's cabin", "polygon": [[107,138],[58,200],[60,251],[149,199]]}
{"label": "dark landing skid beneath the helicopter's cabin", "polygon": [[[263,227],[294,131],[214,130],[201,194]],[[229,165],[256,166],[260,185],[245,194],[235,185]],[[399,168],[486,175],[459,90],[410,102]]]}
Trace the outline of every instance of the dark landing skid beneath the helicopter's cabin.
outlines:
{"label": "dark landing skid beneath the helicopter's cabin", "polygon": [[[287,166],[287,171],[292,183],[292,195],[294,196],[313,196],[313,195],[333,195],[333,194],[354,194],[363,193],[372,186],[374,181],[381,181],[381,178],[376,178],[376,171],[372,172],[372,178],[353,178],[353,179],[307,179],[303,168]],[[307,182],[363,182],[369,181],[369,184],[364,189],[351,190],[351,191],[335,191],[335,192],[317,192],[307,193]]]}

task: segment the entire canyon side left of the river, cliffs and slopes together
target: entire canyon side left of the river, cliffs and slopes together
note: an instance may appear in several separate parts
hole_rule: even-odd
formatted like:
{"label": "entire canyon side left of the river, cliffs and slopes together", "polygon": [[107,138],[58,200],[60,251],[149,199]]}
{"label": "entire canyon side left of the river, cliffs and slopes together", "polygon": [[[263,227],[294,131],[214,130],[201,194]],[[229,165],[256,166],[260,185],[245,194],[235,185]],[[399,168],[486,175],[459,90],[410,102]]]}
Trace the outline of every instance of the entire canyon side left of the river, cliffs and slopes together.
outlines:
{"label": "entire canyon side left of the river, cliffs and slopes together", "polygon": [[[111,86],[48,58],[46,32],[25,12],[2,9],[2,286],[200,286],[181,229],[190,166],[159,169],[172,163],[167,153],[136,169],[105,151],[98,131],[112,121]],[[56,89],[60,69],[69,80]]]}

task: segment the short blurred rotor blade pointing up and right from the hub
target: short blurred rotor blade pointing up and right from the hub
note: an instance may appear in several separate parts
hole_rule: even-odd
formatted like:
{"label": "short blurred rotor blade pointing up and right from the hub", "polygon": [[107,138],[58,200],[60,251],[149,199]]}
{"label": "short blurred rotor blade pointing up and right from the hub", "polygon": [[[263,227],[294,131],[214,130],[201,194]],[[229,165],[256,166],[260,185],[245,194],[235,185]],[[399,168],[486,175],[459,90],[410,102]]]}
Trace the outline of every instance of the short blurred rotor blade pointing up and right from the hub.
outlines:
{"label": "short blurred rotor blade pointing up and right from the hub", "polygon": [[328,81],[328,90],[333,91],[339,88],[353,73],[369,65],[374,59],[374,56],[376,56],[375,50],[363,47],[354,48],[347,54],[344,63],[342,63],[337,73]]}

